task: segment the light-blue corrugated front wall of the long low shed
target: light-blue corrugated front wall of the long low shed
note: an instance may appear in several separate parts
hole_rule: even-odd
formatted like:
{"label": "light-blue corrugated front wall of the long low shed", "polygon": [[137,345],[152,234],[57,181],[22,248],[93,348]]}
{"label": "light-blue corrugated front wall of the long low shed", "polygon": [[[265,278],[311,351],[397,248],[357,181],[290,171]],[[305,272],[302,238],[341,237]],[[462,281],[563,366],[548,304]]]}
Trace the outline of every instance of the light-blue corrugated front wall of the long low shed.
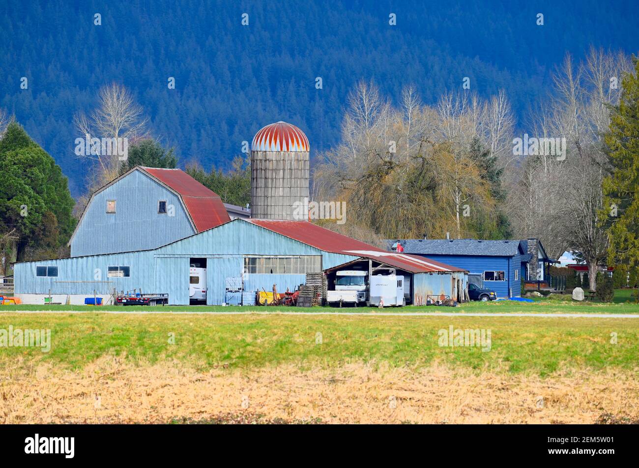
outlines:
{"label": "light-blue corrugated front wall of the long low shed", "polygon": [[[142,230],[146,235],[148,230]],[[140,233],[138,233],[142,237]],[[95,268],[102,268],[105,280],[108,266],[128,266],[131,276],[112,278],[113,284],[105,288],[118,291],[142,289],[144,293],[169,293],[173,304],[189,303],[189,260],[190,257],[207,258],[207,296],[210,303],[224,302],[226,277],[242,275],[243,255],[319,255],[326,265],[339,265],[357,257],[320,251],[272,231],[265,230],[241,219],[223,224],[212,230],[184,238],[159,249],[121,254],[107,254],[75,257],[62,260],[48,260],[15,265],[16,293],[93,293],[94,286],[78,284],[56,284],[51,278],[36,277],[37,265],[57,265],[58,281],[94,281]],[[270,277],[270,278],[268,278]],[[273,284],[281,291],[293,289],[304,282],[304,275],[247,275],[249,288],[265,287],[270,291]],[[266,287],[268,286],[268,287]],[[82,291],[79,291],[82,289]],[[106,291],[105,291],[106,292]]]}

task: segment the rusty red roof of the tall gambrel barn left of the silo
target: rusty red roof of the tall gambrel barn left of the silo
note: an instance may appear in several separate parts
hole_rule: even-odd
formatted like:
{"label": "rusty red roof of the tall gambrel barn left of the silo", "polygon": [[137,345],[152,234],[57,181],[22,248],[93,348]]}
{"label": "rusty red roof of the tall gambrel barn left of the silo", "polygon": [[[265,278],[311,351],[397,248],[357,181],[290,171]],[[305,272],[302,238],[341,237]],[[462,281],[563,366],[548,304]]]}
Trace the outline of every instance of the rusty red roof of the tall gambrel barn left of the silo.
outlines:
{"label": "rusty red roof of the tall gambrel barn left of the silo", "polygon": [[139,168],[180,195],[197,232],[231,221],[220,196],[183,170]]}

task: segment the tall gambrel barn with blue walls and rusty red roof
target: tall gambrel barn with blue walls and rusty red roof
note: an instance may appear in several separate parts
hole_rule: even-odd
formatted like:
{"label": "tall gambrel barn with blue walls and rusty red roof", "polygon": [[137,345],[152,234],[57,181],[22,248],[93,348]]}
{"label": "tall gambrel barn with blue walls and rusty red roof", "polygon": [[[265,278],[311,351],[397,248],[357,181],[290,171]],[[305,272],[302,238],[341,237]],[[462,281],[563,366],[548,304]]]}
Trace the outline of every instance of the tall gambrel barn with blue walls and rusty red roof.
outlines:
{"label": "tall gambrel barn with blue walls and rusty red roof", "polygon": [[229,220],[187,173],[135,166],[91,195],[68,245],[72,257],[154,249]]}

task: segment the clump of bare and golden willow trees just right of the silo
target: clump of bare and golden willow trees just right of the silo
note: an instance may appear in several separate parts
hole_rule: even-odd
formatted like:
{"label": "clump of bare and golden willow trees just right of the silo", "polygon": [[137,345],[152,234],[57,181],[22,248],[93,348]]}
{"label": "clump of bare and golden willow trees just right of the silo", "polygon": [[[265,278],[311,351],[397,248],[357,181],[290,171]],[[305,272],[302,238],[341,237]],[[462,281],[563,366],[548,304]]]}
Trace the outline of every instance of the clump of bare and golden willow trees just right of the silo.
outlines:
{"label": "clump of bare and golden willow trees just right of the silo", "polygon": [[491,215],[486,180],[469,154],[485,101],[446,94],[431,107],[406,87],[393,108],[362,83],[349,101],[341,144],[314,170],[316,200],[346,201],[348,221],[385,237],[467,235],[466,203]]}

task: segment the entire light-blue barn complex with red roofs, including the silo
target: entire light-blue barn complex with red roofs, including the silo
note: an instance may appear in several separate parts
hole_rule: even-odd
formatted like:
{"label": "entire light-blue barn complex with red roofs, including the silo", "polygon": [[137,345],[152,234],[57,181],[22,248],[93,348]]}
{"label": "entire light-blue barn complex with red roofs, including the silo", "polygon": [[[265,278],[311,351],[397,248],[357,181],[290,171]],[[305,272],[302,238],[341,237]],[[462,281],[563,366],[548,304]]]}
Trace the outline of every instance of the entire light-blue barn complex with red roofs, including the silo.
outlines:
{"label": "entire light-blue barn complex with red roofs, including the silo", "polygon": [[300,129],[286,122],[261,129],[251,146],[251,217],[231,221],[220,197],[187,173],[136,166],[93,193],[69,240],[70,258],[15,263],[15,296],[83,303],[99,295],[112,303],[133,292],[167,295],[176,305],[250,304],[274,284],[293,291],[307,274],[317,281],[328,268],[367,259],[371,274],[405,272],[413,303],[465,300],[463,268],[309,223],[309,169]]}

